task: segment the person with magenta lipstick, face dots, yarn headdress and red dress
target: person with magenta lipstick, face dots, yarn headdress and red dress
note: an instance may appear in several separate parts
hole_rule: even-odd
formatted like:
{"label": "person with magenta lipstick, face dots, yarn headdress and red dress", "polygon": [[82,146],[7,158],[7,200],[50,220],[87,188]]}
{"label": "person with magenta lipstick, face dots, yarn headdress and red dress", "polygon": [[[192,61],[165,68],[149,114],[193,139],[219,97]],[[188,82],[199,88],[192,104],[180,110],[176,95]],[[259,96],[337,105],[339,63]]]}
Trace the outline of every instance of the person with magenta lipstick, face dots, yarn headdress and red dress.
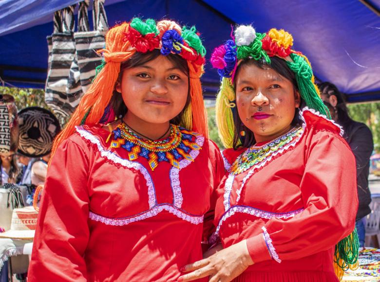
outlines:
{"label": "person with magenta lipstick, face dots, yarn headdress and red dress", "polygon": [[355,159],[292,43],[284,30],[240,26],[211,56],[228,172],[216,247],[180,281],[338,282],[357,263]]}

